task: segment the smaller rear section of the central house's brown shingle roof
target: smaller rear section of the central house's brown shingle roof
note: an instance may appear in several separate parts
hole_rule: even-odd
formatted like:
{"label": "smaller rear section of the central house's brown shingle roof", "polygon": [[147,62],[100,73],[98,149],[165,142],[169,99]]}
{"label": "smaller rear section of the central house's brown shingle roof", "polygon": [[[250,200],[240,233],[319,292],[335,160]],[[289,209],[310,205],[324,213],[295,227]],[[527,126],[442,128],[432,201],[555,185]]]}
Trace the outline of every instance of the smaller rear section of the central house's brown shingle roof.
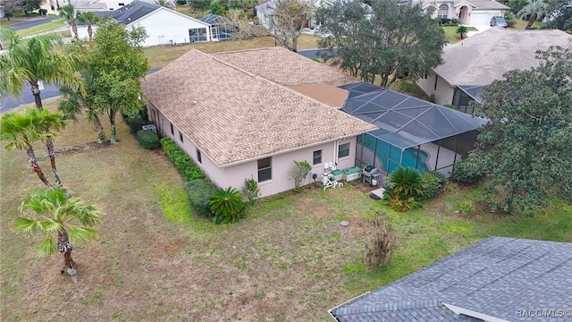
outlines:
{"label": "smaller rear section of the central house's brown shingle roof", "polygon": [[283,86],[339,86],[359,81],[325,64],[302,55],[293,55],[290,50],[282,47],[241,50],[214,56]]}

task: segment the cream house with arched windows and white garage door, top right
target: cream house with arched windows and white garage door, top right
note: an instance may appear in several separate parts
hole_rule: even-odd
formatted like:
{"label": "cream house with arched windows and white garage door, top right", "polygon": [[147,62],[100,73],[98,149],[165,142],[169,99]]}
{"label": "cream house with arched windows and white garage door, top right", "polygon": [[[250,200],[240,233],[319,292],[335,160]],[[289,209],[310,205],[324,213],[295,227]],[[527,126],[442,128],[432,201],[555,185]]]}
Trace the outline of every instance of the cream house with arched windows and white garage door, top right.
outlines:
{"label": "cream house with arched windows and white garage door, top right", "polygon": [[[413,1],[416,4],[416,1]],[[462,25],[489,25],[494,16],[504,17],[510,8],[493,0],[421,0],[433,18],[457,19]]]}

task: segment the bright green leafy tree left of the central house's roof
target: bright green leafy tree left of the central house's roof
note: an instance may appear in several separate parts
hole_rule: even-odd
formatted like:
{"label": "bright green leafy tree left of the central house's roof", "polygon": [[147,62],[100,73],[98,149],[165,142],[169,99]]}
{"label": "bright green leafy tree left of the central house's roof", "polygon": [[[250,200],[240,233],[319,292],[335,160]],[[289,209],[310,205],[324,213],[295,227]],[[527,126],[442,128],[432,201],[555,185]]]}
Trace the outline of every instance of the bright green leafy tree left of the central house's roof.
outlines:
{"label": "bright green leafy tree left of the central house's roof", "polygon": [[117,112],[134,117],[143,107],[145,94],[140,79],[149,69],[141,42],[147,38],[142,27],[126,30],[121,23],[99,23],[96,36],[87,49],[89,71],[93,73],[94,106],[111,123],[111,143],[116,143]]}

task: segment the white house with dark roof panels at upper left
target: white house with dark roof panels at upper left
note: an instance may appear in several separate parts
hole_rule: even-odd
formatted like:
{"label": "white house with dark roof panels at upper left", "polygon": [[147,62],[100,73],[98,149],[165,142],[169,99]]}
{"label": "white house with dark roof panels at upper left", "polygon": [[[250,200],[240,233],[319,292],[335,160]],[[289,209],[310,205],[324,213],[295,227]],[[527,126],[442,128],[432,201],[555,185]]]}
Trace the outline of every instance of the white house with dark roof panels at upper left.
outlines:
{"label": "white house with dark roof panels at upper left", "polygon": [[[95,13],[100,17],[110,17],[127,28],[144,27],[148,37],[143,47],[213,40],[208,23],[157,4],[137,0],[118,10]],[[96,29],[94,26],[94,34]],[[78,34],[80,38],[88,38],[88,26],[78,26]]]}

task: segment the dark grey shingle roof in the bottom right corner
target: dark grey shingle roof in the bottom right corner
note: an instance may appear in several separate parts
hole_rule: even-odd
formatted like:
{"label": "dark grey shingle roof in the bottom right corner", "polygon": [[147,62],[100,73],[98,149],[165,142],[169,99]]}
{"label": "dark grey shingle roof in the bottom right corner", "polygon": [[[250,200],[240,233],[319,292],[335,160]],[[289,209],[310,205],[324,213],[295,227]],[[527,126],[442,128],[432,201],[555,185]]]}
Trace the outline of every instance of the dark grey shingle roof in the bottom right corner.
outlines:
{"label": "dark grey shingle roof in the bottom right corner", "polygon": [[492,237],[330,309],[337,321],[569,321],[572,243]]}

